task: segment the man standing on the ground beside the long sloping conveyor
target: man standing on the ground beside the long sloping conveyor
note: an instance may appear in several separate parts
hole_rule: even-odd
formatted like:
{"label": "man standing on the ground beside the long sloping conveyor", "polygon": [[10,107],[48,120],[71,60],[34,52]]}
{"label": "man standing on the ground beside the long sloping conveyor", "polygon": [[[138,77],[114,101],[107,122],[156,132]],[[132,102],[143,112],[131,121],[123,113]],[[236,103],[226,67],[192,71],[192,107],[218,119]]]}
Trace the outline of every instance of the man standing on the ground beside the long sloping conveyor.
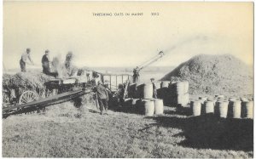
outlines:
{"label": "man standing on the ground beside the long sloping conveyor", "polygon": [[96,93],[98,103],[100,105],[101,115],[105,108],[106,113],[108,114],[108,91],[102,85],[102,81],[98,81],[97,86],[93,90]]}

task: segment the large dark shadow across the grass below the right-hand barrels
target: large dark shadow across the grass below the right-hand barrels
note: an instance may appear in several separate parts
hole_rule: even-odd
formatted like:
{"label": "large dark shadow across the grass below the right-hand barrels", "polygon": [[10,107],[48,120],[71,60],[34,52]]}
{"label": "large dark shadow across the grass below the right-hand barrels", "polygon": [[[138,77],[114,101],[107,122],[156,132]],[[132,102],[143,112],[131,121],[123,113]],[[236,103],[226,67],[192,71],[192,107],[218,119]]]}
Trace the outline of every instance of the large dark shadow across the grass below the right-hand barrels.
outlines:
{"label": "large dark shadow across the grass below the right-hand barrels", "polygon": [[157,126],[180,128],[185,140],[179,145],[214,150],[253,150],[252,119],[222,119],[213,114],[178,118],[152,117]]}

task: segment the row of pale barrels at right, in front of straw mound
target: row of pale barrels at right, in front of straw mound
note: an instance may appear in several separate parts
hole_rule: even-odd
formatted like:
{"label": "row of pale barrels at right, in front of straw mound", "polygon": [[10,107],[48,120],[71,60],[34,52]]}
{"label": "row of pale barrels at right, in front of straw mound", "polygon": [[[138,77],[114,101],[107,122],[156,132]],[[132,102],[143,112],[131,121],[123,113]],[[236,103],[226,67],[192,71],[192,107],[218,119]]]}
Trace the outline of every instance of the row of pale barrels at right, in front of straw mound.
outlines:
{"label": "row of pale barrels at right, in front of straw mound", "polygon": [[253,118],[253,101],[248,99],[207,99],[190,101],[193,116],[213,113],[223,118]]}

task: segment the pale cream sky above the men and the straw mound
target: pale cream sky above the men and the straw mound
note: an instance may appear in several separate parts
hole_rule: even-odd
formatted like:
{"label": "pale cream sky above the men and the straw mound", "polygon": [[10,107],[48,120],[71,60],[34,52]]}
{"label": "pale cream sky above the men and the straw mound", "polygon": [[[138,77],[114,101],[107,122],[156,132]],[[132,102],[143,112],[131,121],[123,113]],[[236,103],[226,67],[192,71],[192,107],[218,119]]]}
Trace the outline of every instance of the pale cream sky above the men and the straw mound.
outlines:
{"label": "pale cream sky above the men and the straw mound", "polygon": [[253,3],[5,1],[4,67],[20,68],[26,48],[36,66],[45,49],[62,60],[72,51],[79,67],[135,67],[161,50],[153,66],[196,54],[233,54],[253,65]]}

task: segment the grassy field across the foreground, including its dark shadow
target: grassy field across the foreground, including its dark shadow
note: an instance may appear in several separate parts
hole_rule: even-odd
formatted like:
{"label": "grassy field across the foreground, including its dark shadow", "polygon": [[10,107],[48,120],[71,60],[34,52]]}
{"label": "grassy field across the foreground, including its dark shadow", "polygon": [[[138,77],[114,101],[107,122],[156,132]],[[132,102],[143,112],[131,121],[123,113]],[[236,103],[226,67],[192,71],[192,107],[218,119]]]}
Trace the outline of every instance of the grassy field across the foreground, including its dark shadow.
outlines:
{"label": "grassy field across the foreground, including its dark shadow", "polygon": [[3,156],[253,157],[253,120],[191,117],[172,107],[154,117],[123,111],[101,116],[94,105],[77,109],[67,102],[44,115],[9,116]]}

